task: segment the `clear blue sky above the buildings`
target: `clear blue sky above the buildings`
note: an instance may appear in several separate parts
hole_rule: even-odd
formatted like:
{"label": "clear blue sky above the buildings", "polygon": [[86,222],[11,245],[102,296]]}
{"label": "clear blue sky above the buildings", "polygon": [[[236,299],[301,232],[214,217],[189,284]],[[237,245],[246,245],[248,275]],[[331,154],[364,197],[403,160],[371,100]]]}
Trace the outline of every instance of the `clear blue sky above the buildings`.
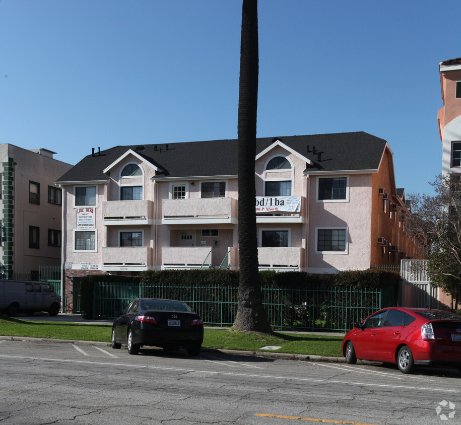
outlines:
{"label": "clear blue sky above the buildings", "polygon": [[[366,131],[398,187],[441,171],[438,64],[461,2],[259,0],[257,136]],[[241,0],[2,0],[0,143],[91,148],[237,137]]]}

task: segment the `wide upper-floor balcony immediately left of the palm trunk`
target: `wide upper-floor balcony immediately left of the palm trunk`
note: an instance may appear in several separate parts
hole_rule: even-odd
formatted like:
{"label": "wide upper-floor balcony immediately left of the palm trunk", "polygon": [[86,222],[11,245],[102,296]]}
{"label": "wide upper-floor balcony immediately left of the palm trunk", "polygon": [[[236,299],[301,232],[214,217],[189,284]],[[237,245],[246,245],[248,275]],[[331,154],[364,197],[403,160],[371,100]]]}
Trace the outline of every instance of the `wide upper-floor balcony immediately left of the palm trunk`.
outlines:
{"label": "wide upper-floor balcony immediately left of the palm trunk", "polygon": [[237,199],[164,199],[162,224],[237,224]]}

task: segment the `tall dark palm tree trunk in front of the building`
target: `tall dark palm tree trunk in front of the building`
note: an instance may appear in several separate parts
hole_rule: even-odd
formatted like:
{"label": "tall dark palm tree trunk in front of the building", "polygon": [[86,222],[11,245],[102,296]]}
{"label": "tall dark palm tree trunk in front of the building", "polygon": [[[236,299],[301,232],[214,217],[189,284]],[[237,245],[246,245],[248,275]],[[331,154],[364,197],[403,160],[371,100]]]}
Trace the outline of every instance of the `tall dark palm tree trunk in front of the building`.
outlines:
{"label": "tall dark palm tree trunk in front of the building", "polygon": [[240,280],[233,328],[271,333],[259,282],[254,161],[258,88],[257,0],[243,0],[238,99],[238,245]]}

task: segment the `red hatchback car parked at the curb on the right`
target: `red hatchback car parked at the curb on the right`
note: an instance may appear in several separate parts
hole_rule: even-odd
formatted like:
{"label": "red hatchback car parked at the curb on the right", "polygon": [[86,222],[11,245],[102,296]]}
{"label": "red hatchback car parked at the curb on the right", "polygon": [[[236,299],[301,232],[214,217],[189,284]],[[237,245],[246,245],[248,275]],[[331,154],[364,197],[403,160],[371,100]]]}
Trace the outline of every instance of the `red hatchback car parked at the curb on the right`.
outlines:
{"label": "red hatchback car parked at the curb on the right", "polygon": [[432,309],[379,310],[346,334],[342,352],[350,365],[360,359],[397,363],[403,373],[423,365],[461,372],[461,316]]}

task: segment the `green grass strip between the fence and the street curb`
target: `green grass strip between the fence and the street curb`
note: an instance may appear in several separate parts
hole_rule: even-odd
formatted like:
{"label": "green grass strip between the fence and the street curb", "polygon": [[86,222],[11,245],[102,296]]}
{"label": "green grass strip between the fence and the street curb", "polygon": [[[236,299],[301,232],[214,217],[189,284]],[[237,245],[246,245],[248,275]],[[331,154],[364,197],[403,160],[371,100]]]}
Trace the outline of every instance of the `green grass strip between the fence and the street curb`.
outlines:
{"label": "green grass strip between the fence and the street curb", "polygon": [[[26,321],[0,316],[0,335],[34,338],[110,342],[110,324],[80,324]],[[340,357],[341,336],[282,333],[245,333],[227,329],[205,329],[203,347],[243,351],[268,351],[312,356]],[[262,350],[263,346],[280,346]]]}

